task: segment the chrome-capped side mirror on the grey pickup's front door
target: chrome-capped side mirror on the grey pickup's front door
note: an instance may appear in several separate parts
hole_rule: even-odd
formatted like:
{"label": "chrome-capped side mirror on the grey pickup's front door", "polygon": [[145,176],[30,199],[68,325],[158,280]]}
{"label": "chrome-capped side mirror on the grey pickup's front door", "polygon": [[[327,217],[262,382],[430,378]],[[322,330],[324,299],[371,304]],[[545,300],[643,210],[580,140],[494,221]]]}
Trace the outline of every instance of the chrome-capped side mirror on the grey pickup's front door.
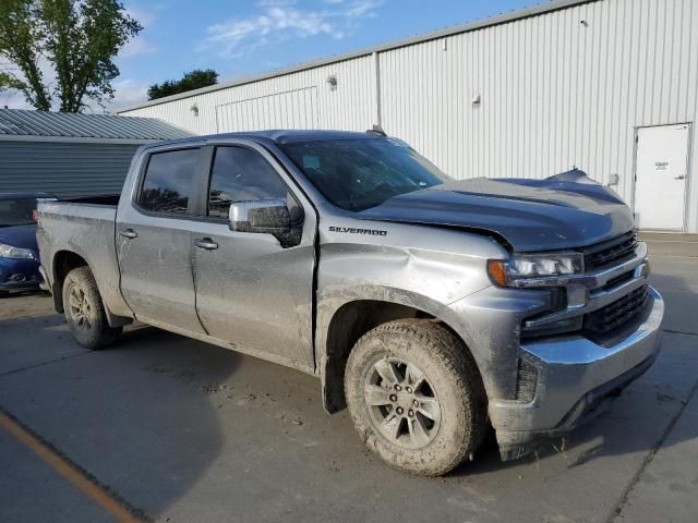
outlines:
{"label": "chrome-capped side mirror on the grey pickup's front door", "polygon": [[288,234],[291,232],[291,212],[284,199],[234,202],[230,205],[229,227],[237,232]]}

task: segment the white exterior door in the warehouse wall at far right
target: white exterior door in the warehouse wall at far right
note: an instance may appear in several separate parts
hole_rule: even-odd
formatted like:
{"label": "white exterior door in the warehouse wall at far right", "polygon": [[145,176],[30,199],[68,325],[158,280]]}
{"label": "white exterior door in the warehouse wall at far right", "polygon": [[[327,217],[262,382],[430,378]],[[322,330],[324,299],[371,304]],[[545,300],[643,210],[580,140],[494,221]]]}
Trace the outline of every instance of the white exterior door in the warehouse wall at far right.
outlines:
{"label": "white exterior door in the warehouse wall at far right", "polygon": [[688,124],[638,129],[635,220],[639,229],[684,229],[689,136]]}

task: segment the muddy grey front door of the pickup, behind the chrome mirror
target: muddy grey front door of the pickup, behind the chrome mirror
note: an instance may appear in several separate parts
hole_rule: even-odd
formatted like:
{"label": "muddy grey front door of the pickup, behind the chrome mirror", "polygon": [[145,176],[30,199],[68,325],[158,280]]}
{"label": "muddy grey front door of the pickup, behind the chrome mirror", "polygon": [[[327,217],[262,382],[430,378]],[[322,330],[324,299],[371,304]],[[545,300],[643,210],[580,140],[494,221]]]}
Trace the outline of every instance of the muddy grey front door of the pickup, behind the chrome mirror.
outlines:
{"label": "muddy grey front door of the pickup, behind the chrome mirror", "polygon": [[[201,321],[232,348],[312,369],[315,212],[257,144],[219,145],[212,153],[206,218],[193,251]],[[303,208],[296,244],[281,246],[272,234],[230,231],[230,204],[261,199],[286,199]]]}

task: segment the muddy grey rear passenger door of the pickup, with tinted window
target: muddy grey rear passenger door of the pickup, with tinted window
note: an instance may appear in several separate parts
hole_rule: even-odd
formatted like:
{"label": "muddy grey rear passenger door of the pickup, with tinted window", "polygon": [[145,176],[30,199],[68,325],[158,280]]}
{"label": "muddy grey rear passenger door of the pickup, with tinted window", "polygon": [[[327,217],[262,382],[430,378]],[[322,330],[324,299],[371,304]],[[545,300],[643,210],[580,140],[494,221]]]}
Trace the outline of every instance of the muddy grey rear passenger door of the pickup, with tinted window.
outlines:
{"label": "muddy grey rear passenger door of the pickup, with tinted window", "polygon": [[191,257],[204,151],[189,147],[151,154],[117,222],[121,293],[136,317],[202,333]]}

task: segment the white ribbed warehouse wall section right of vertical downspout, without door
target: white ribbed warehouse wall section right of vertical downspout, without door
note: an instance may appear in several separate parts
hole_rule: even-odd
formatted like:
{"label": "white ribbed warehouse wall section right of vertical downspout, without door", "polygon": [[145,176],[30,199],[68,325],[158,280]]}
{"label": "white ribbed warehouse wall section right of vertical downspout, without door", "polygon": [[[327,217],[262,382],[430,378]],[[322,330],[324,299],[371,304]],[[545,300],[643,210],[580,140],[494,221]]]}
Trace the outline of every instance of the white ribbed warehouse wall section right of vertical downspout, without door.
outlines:
{"label": "white ribbed warehouse wall section right of vertical downspout, without door", "polygon": [[459,178],[576,166],[631,203],[636,127],[696,120],[696,24],[695,0],[604,0],[387,51],[383,123]]}

